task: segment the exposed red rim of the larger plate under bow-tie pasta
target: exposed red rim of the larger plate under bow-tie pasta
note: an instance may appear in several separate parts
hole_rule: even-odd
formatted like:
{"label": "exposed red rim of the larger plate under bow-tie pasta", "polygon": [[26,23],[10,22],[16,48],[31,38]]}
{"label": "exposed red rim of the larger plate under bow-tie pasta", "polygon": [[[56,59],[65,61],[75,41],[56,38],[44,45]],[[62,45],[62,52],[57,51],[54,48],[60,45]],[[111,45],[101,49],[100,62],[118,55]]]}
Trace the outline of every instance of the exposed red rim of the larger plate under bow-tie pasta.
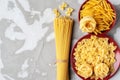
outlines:
{"label": "exposed red rim of the larger plate under bow-tie pasta", "polygon": [[[75,61],[76,61],[76,60],[74,59],[75,56],[74,56],[73,54],[74,54],[74,52],[75,52],[75,48],[77,47],[78,42],[80,42],[80,41],[83,40],[83,39],[90,38],[91,35],[92,35],[92,34],[88,34],[88,35],[85,35],[84,37],[80,38],[80,39],[76,42],[76,44],[74,45],[74,47],[73,47],[73,49],[72,49],[72,53],[71,53],[71,59],[70,59],[70,60],[71,60],[71,66],[72,66],[74,72],[75,72],[80,78],[82,78],[83,80],[91,80],[91,79],[90,79],[90,78],[85,79],[84,77],[81,77],[81,76],[77,73],[77,70],[75,69]],[[104,35],[104,34],[96,35],[96,36],[97,36],[97,37],[102,37],[102,38],[108,38],[108,39],[109,39],[109,42],[113,42],[114,46],[117,46],[117,48],[116,48],[116,50],[115,50],[115,55],[116,55],[116,56],[115,56],[116,62],[114,63],[114,69],[115,69],[115,71],[104,78],[104,80],[108,80],[108,79],[110,79],[113,75],[115,75],[115,73],[118,71],[118,69],[119,69],[119,67],[120,67],[120,48],[119,48],[119,46],[117,45],[117,43],[116,43],[111,37],[109,37],[109,36],[107,36],[107,35]],[[94,79],[93,79],[93,80],[94,80]],[[100,80],[100,79],[98,79],[98,80]]]}

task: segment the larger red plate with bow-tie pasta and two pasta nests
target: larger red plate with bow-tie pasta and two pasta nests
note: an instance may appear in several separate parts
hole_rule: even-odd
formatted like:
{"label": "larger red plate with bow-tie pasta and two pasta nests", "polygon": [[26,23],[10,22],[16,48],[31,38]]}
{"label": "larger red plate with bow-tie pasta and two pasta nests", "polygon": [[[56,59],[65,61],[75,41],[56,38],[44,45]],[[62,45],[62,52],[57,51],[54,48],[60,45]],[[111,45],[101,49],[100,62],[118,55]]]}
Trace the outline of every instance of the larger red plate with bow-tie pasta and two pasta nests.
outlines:
{"label": "larger red plate with bow-tie pasta and two pasta nests", "polygon": [[108,80],[120,65],[120,50],[107,35],[88,34],[73,47],[71,65],[83,80]]}

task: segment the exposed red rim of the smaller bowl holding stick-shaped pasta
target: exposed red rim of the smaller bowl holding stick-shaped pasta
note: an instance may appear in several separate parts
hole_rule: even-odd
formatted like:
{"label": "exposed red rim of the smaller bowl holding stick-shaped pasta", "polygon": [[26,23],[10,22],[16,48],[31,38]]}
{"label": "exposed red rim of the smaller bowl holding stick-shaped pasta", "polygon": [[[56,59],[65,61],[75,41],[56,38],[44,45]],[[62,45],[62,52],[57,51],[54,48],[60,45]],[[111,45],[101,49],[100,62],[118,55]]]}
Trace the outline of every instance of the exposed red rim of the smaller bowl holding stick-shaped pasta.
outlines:
{"label": "exposed red rim of the smaller bowl holding stick-shaped pasta", "polygon": [[[87,1],[88,1],[88,0],[86,0],[86,1],[81,5],[81,7],[79,8],[79,12],[78,12],[78,22],[79,22],[79,23],[80,23],[80,11],[82,10],[83,5],[84,5]],[[114,6],[113,6],[108,0],[106,0],[106,1],[110,4],[111,8],[113,9],[113,11],[114,11],[114,13],[115,13],[115,19],[114,19],[113,23],[110,25],[110,29],[109,29],[109,30],[102,31],[101,34],[106,34],[107,32],[109,32],[109,31],[114,27],[115,22],[116,22],[116,10],[115,10]],[[90,33],[90,34],[94,34],[94,33]],[[98,34],[99,34],[99,33],[98,33]]]}

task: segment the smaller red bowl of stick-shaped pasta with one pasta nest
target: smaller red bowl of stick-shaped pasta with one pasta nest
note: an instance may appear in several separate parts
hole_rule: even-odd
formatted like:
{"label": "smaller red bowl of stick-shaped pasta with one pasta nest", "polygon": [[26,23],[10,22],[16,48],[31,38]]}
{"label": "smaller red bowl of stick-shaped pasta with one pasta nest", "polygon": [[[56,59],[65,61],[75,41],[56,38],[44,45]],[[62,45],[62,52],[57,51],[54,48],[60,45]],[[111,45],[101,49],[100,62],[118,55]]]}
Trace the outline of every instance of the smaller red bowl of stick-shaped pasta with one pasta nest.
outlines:
{"label": "smaller red bowl of stick-shaped pasta with one pasta nest", "polygon": [[116,11],[108,0],[86,0],[79,9],[78,21],[82,32],[107,33],[116,22]]}

